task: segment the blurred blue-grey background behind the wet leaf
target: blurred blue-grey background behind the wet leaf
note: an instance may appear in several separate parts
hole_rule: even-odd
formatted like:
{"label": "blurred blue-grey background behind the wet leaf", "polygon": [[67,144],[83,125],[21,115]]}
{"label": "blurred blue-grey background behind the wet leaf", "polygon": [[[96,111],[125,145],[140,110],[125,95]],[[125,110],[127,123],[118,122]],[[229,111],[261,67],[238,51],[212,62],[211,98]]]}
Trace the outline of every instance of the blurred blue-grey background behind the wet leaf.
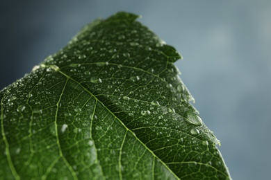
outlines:
{"label": "blurred blue-grey background behind the wet leaf", "polygon": [[[124,10],[174,46],[233,179],[270,179],[271,1],[0,1],[0,89],[90,21]],[[269,143],[268,143],[269,142]]]}

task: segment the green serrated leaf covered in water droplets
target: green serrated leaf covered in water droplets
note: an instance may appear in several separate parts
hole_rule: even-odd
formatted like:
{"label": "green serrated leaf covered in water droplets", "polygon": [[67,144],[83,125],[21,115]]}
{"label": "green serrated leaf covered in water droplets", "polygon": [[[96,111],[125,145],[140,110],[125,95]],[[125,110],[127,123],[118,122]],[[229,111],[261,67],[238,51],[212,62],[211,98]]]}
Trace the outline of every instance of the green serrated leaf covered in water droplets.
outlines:
{"label": "green serrated leaf covered in water droplets", "polygon": [[181,55],[119,12],[0,91],[0,179],[230,179]]}

